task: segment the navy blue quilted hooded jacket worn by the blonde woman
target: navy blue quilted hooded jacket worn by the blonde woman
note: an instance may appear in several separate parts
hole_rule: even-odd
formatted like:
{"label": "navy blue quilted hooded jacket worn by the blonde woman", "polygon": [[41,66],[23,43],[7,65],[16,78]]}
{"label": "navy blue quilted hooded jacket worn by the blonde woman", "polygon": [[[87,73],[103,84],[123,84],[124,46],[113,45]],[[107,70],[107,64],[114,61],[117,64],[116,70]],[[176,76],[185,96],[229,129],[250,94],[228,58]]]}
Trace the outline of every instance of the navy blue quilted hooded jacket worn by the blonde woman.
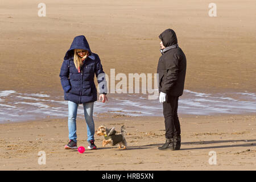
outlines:
{"label": "navy blue quilted hooded jacket worn by the blonde woman", "polygon": [[[84,64],[79,73],[75,67],[74,49],[84,49],[89,51]],[[60,69],[60,82],[64,90],[64,99],[83,104],[86,102],[97,101],[97,89],[94,84],[94,74],[97,77],[98,84],[101,82],[100,94],[107,93],[105,73],[102,69],[100,57],[90,51],[89,44],[85,36],[76,36],[65,54],[63,64]],[[102,82],[103,81],[103,82]]]}

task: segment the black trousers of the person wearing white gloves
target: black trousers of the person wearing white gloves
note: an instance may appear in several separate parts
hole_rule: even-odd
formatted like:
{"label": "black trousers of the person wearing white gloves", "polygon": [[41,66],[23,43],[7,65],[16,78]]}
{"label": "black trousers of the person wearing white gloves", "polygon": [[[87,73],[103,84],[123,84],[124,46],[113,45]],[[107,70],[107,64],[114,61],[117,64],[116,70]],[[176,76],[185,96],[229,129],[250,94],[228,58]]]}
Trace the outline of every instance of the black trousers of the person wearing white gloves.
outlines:
{"label": "black trousers of the person wearing white gloves", "polygon": [[167,96],[166,102],[163,102],[166,139],[180,136],[180,121],[177,115],[178,101],[179,96]]}

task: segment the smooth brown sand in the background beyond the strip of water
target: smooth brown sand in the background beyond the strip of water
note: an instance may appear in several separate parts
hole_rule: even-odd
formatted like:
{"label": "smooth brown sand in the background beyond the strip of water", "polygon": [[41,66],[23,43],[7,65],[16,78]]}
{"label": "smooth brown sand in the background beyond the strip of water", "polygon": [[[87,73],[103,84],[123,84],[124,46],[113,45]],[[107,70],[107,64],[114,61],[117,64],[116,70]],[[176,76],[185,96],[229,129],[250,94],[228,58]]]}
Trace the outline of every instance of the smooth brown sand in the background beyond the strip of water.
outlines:
{"label": "smooth brown sand in the background beyond the strip of water", "polygon": [[111,68],[155,73],[158,35],[173,28],[187,56],[185,89],[255,92],[255,1],[216,1],[214,18],[201,1],[46,0],[46,17],[38,16],[39,3],[1,3],[0,90],[63,94],[60,67],[77,35],[86,36],[108,75]]}

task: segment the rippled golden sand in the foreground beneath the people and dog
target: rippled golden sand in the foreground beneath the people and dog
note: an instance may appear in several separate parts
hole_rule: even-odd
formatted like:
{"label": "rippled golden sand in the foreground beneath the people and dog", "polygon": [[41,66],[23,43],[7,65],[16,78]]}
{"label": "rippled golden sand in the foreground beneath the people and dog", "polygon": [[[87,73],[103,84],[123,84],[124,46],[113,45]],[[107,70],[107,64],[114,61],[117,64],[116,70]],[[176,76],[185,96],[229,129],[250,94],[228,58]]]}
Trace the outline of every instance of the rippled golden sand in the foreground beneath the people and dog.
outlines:
{"label": "rippled golden sand in the foreground beneath the people and dog", "polygon": [[[159,151],[164,143],[162,117],[122,117],[117,114],[94,118],[127,129],[127,150],[101,146],[98,150],[64,150],[68,143],[65,119],[8,123],[0,127],[1,170],[255,170],[255,115],[180,115],[181,150]],[[77,121],[78,146],[87,147],[86,124]],[[38,152],[46,152],[46,164],[38,164]],[[210,165],[209,152],[217,164]]]}

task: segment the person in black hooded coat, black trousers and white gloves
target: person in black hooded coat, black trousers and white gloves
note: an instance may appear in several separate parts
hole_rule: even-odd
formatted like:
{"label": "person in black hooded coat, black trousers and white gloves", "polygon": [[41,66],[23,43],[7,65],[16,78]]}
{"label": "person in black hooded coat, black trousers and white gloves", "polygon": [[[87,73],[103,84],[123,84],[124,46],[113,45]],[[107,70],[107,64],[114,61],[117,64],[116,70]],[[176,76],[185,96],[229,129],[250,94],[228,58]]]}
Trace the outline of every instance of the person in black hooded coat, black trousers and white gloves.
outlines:
{"label": "person in black hooded coat, black trousers and white gloves", "polygon": [[159,35],[160,52],[158,61],[159,101],[163,103],[166,143],[159,150],[180,149],[180,122],[177,115],[179,97],[183,94],[187,60],[177,44],[174,30],[167,29]]}

